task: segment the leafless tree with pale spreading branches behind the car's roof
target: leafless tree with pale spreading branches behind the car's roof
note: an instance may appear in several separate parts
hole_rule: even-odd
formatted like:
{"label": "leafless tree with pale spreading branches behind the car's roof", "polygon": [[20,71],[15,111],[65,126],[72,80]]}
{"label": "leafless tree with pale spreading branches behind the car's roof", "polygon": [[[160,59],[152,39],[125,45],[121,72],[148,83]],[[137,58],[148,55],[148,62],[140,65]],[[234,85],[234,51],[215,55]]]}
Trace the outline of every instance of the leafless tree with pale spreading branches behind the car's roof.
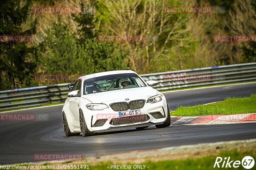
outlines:
{"label": "leafless tree with pale spreading branches behind the car's roof", "polygon": [[[185,35],[189,15],[168,14],[163,8],[179,6],[179,2],[160,0],[99,0],[105,29],[116,35],[143,35],[146,40],[124,42],[129,50],[131,69],[139,74],[159,70],[156,62],[166,60],[173,47],[182,47],[189,40]],[[182,4],[186,6],[186,4]],[[187,5],[188,6],[188,5]],[[108,15],[106,15],[108,14]]]}

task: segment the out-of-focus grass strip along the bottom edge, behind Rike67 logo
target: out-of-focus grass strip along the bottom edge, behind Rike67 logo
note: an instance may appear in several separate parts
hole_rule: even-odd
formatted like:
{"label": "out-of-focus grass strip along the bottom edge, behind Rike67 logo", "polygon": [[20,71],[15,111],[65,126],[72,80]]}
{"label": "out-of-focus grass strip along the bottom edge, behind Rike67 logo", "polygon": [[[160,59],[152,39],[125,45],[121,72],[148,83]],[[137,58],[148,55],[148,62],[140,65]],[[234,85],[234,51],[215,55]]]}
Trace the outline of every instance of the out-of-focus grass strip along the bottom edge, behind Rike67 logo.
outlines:
{"label": "out-of-focus grass strip along the bottom edge, behind Rike67 logo", "polygon": [[[199,153],[198,153],[199,154]],[[196,154],[195,154],[196,155]],[[131,169],[134,169],[133,166],[134,165],[145,165],[145,169],[147,170],[163,170],[163,169],[170,169],[170,170],[198,170],[198,169],[209,169],[209,170],[214,170],[214,169],[234,169],[233,167],[233,163],[236,160],[239,160],[240,162],[242,161],[242,159],[245,156],[251,156],[252,158],[254,158],[254,160],[256,159],[256,147],[250,147],[250,148],[235,148],[235,149],[225,149],[222,150],[221,152],[218,150],[213,151],[213,153],[211,154],[206,154],[207,156],[203,156],[203,157],[197,157],[197,158],[189,158],[189,159],[177,159],[177,160],[162,160],[162,161],[157,161],[157,162],[153,162],[153,161],[148,161],[148,162],[142,162],[139,164],[134,164],[134,163],[125,163],[125,164],[119,164],[119,163],[115,163],[113,164],[112,162],[100,162],[96,165],[90,165],[89,164],[89,169],[93,169],[93,170],[110,170],[111,165],[131,165]],[[222,159],[224,160],[224,158],[228,158],[230,157],[230,161],[233,160],[233,162],[230,164],[231,168],[221,168],[223,160],[221,163],[219,163],[220,168],[215,167],[214,163],[217,157],[222,157]],[[26,165],[26,164],[17,164],[17,165]],[[47,165],[47,164],[43,164],[43,165]],[[87,165],[86,163],[79,163],[79,165]],[[226,165],[226,164],[225,164]],[[255,166],[253,166],[252,169],[255,169]],[[87,166],[86,166],[87,167]],[[142,166],[143,167],[143,166]],[[113,167],[112,167],[113,169]],[[239,165],[238,168],[235,169],[244,169],[244,167],[242,165]]]}

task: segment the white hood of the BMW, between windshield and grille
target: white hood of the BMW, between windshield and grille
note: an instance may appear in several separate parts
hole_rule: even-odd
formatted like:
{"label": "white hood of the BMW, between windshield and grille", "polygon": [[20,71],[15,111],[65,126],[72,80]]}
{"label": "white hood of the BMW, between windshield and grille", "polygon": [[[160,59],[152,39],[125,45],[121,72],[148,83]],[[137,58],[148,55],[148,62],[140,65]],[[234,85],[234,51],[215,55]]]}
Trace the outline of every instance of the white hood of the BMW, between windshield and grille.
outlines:
{"label": "white hood of the BMW, between windshield and grille", "polygon": [[[137,87],[130,89],[118,89],[105,91],[93,94],[83,95],[82,97],[90,100],[92,103],[111,103],[112,102],[130,102],[138,99],[148,99],[151,96],[156,96],[157,90],[152,87]],[[125,99],[129,99],[126,101]]]}

